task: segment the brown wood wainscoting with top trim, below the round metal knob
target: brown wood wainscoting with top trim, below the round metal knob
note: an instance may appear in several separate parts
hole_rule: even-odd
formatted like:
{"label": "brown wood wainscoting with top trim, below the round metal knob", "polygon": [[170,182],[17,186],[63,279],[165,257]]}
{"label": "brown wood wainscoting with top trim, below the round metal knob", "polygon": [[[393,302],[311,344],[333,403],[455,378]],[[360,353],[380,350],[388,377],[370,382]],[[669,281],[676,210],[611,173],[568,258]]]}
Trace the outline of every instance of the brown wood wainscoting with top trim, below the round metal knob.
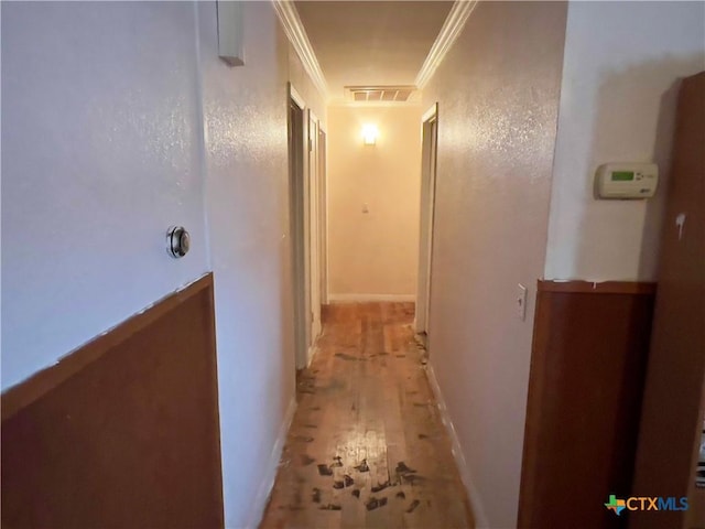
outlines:
{"label": "brown wood wainscoting with top trim, below the round metal knob", "polygon": [[221,528],[214,321],[208,274],[8,390],[2,527]]}

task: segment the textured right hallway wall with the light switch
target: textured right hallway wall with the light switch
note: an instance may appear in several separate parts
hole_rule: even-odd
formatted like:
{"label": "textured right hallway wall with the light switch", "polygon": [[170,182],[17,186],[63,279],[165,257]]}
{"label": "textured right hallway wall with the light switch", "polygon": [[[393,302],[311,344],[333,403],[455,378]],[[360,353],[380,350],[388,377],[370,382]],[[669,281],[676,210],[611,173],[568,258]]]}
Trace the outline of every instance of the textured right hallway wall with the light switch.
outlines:
{"label": "textured right hallway wall with the light switch", "polygon": [[558,2],[480,3],[424,90],[425,108],[438,101],[430,355],[478,527],[517,523],[565,15]]}

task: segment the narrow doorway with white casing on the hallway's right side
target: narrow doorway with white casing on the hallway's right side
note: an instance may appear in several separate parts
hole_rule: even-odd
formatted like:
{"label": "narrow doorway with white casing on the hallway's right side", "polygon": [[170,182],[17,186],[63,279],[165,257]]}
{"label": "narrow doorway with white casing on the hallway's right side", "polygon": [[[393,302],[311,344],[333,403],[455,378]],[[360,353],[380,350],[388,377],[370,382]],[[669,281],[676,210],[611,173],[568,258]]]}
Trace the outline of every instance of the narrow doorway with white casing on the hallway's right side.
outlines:
{"label": "narrow doorway with white casing on the hallway's right side", "polygon": [[438,104],[422,118],[421,150],[421,231],[419,237],[419,287],[414,327],[426,348],[431,305],[431,271],[433,262],[433,220],[436,193],[436,148],[438,138]]}

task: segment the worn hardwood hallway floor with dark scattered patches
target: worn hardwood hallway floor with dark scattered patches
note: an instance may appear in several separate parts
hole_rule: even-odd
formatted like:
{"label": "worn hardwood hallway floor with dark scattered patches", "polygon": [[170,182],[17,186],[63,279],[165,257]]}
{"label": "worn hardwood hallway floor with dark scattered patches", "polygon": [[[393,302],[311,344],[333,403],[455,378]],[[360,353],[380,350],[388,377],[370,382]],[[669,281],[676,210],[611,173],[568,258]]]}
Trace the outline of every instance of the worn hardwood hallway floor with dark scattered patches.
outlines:
{"label": "worn hardwood hallway floor with dark scattered patches", "polygon": [[413,303],[329,305],[262,528],[471,528]]}

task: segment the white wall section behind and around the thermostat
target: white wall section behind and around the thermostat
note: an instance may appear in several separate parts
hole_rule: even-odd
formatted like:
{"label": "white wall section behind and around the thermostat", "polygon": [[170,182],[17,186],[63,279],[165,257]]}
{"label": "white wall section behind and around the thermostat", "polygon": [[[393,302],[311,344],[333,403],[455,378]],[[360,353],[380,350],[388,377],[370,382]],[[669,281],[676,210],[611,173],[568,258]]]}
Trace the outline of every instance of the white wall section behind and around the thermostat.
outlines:
{"label": "white wall section behind and around the thermostat", "polygon": [[[676,80],[705,69],[703,2],[571,2],[545,277],[653,280]],[[650,201],[596,201],[595,169],[655,161]]]}

